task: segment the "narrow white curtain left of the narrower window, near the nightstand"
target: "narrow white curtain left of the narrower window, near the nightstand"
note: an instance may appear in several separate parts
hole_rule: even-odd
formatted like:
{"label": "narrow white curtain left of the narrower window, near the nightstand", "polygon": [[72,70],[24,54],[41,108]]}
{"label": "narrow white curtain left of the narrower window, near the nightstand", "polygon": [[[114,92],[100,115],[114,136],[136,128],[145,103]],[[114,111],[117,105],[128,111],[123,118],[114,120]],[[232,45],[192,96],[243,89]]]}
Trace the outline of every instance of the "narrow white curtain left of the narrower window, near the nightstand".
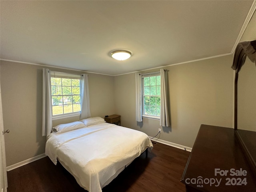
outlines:
{"label": "narrow white curtain left of the narrower window, near the nightstand", "polygon": [[136,81],[136,121],[142,122],[142,79],[139,73],[135,74]]}

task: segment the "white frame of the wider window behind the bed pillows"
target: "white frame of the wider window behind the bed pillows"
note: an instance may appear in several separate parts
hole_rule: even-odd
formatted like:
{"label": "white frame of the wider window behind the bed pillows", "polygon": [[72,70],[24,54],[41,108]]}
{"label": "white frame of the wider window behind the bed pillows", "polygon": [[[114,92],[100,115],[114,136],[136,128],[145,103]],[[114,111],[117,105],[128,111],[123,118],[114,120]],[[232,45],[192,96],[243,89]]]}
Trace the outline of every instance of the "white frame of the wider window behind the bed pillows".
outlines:
{"label": "white frame of the wider window behind the bed pillows", "polygon": [[[82,98],[82,95],[81,95],[81,90],[82,90],[81,89],[81,76],[77,75],[77,74],[68,74],[68,73],[62,73],[62,72],[50,72],[50,77],[51,78],[55,77],[55,78],[68,78],[68,79],[79,79],[80,80],[80,111],[57,114],[57,115],[52,114],[52,120],[57,120],[57,119],[62,119],[62,118],[67,118],[67,117],[73,117],[73,116],[80,116],[80,114],[81,114],[81,101],[82,101],[81,100],[81,98]],[[51,84],[51,87],[52,87],[52,84]],[[52,95],[52,93],[51,93],[51,95]],[[52,96],[54,96],[54,95],[52,95]],[[72,95],[72,93],[71,93],[71,95],[63,95],[63,92],[62,92],[62,95],[58,95],[58,96],[76,96],[76,95]],[[73,107],[73,104],[74,103],[72,103],[70,105],[72,105],[72,107]],[[53,104],[52,104],[52,111],[53,111]]]}

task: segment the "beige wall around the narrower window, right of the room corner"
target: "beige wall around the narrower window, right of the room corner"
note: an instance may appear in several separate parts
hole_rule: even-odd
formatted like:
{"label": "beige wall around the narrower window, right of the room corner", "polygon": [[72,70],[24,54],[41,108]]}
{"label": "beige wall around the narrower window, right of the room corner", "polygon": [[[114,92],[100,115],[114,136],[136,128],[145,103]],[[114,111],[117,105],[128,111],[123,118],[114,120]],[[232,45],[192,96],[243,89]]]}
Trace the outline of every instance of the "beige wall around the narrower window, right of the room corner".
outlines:
{"label": "beige wall around the narrower window, right of the room corner", "polygon": [[[161,140],[192,147],[200,124],[232,127],[232,55],[168,66],[171,126],[164,127]],[[152,70],[159,71],[159,69]],[[143,71],[145,73],[148,71]],[[135,74],[115,76],[116,113],[122,126],[158,133],[159,120],[135,120]]]}

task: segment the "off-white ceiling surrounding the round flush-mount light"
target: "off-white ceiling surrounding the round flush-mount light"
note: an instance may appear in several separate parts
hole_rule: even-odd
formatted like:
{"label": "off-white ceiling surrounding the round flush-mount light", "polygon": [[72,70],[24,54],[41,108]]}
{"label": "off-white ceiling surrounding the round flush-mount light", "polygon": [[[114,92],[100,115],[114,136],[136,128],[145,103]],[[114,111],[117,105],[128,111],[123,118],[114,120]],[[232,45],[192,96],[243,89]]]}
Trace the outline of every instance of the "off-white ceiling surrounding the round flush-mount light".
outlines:
{"label": "off-white ceiling surrounding the round flush-mount light", "polygon": [[0,58],[118,75],[228,54],[252,2],[1,0]]}

